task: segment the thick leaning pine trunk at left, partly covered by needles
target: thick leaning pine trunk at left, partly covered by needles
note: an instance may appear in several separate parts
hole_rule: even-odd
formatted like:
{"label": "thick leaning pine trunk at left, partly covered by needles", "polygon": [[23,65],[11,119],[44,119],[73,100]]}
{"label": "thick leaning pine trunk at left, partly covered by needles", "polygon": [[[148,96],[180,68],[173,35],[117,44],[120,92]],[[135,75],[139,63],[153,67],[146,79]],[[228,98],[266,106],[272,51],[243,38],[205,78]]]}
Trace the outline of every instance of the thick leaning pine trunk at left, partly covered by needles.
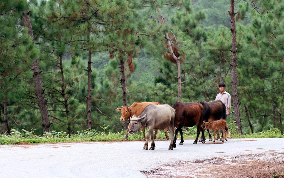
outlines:
{"label": "thick leaning pine trunk at left, partly covered by needles", "polygon": [[[33,37],[33,31],[32,31],[32,24],[30,20],[30,11],[23,13],[22,15],[24,25],[28,29],[28,34]],[[42,120],[42,131],[43,133],[45,132],[50,132],[50,121],[48,118],[48,111],[47,111],[47,99],[44,97],[44,89],[42,88],[42,79],[41,79],[41,72],[38,66],[38,59],[35,59],[32,62],[32,70],[33,70],[33,79],[35,83],[35,92],[37,95],[37,101],[39,105],[39,110],[41,113],[41,120]]]}

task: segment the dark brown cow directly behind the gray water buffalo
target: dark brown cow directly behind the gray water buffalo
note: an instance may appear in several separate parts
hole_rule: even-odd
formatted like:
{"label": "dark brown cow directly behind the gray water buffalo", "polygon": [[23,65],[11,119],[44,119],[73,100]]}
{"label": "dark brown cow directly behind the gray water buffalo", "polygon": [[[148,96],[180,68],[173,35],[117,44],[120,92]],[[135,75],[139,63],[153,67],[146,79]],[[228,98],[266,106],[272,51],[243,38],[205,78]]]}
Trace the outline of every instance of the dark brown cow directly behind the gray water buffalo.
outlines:
{"label": "dark brown cow directly behind the gray water buffalo", "polygon": [[181,136],[181,140],[179,145],[184,144],[184,138],[182,133],[182,127],[193,127],[197,126],[197,137],[193,144],[197,144],[197,140],[202,132],[203,142],[205,143],[205,136],[203,130],[203,106],[199,102],[194,103],[180,103],[176,102],[173,106],[175,109],[175,117],[174,117],[174,126],[177,127],[175,130],[174,141],[176,141],[176,135],[179,132]]}

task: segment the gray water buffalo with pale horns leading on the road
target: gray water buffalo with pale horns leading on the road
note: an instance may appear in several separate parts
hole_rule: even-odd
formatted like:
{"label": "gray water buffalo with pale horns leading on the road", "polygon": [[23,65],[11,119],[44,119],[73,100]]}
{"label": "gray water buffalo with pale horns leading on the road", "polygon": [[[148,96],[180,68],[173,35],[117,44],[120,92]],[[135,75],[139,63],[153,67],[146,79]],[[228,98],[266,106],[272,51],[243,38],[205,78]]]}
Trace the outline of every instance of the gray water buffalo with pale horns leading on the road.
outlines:
{"label": "gray water buffalo with pale horns leading on the road", "polygon": [[168,104],[161,104],[161,105],[153,105],[150,104],[147,106],[144,111],[136,117],[133,115],[130,118],[131,126],[129,133],[133,134],[136,133],[140,127],[146,126],[148,129],[148,133],[146,135],[146,141],[143,147],[143,150],[148,150],[148,141],[151,135],[151,147],[149,150],[155,149],[155,141],[154,141],[154,129],[165,129],[169,126],[170,131],[170,145],[169,150],[173,150],[176,147],[174,143],[174,115],[175,110],[174,108],[170,107]]}

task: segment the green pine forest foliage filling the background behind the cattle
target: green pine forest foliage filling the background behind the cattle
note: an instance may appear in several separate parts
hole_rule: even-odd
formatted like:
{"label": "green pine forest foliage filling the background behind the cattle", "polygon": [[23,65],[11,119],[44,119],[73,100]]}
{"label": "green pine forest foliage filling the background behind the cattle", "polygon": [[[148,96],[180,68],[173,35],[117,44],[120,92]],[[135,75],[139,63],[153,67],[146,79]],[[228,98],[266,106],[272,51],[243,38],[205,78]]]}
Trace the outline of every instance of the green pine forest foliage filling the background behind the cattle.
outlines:
{"label": "green pine forest foliage filling the background behind the cattle", "polygon": [[[1,0],[0,8],[0,133],[7,131],[6,122],[15,130],[42,134],[31,69],[36,58],[51,130],[87,129],[89,51],[92,129],[124,129],[116,110],[123,105],[120,57],[128,105],[156,101],[173,106],[177,66],[164,57],[165,33],[177,38],[184,56],[182,102],[214,100],[220,82],[232,96],[229,0]],[[24,28],[27,11],[34,41]],[[242,133],[271,128],[283,133],[284,2],[237,0],[235,12]]]}

